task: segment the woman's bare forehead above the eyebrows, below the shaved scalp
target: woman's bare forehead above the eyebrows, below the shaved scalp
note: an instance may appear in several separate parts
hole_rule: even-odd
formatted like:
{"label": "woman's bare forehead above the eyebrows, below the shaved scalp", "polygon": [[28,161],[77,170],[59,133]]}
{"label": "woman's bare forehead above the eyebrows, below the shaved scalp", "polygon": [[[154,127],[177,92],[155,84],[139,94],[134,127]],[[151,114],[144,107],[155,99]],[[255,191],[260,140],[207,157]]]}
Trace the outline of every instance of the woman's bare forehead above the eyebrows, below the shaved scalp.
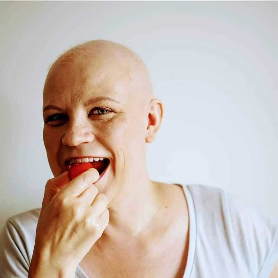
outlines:
{"label": "woman's bare forehead above the eyebrows, below the shaved scalp", "polygon": [[81,101],[89,97],[107,96],[126,102],[132,91],[129,65],[112,59],[73,61],[54,64],[44,86],[44,104]]}

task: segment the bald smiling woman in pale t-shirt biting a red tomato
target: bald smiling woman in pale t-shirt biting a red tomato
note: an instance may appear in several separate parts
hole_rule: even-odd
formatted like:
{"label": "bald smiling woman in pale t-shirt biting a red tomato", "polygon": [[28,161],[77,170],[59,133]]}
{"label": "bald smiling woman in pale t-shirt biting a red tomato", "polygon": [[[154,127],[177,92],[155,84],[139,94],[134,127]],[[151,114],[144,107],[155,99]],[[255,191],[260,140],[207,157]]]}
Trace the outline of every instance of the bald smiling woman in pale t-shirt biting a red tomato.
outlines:
{"label": "bald smiling woman in pale t-shirt biting a red tomato", "polygon": [[[46,183],[41,209],[6,222],[3,275],[271,272],[278,256],[272,249],[278,246],[276,218],[217,187],[150,180],[146,147],[161,125],[163,105],[153,97],[143,62],[128,48],[95,40],[70,49],[49,70],[43,102],[54,178]],[[92,168],[74,177],[82,163]]]}

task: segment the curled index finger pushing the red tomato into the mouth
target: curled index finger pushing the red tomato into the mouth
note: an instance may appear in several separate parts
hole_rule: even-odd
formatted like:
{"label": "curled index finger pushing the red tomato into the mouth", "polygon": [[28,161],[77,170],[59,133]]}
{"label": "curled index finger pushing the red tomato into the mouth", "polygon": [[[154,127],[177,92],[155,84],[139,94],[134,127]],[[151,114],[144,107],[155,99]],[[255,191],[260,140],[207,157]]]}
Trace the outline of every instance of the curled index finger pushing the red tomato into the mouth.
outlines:
{"label": "curled index finger pushing the red tomato into the mouth", "polygon": [[98,179],[98,170],[95,168],[89,168],[84,173],[72,179],[70,183],[61,190],[61,194],[78,197]]}

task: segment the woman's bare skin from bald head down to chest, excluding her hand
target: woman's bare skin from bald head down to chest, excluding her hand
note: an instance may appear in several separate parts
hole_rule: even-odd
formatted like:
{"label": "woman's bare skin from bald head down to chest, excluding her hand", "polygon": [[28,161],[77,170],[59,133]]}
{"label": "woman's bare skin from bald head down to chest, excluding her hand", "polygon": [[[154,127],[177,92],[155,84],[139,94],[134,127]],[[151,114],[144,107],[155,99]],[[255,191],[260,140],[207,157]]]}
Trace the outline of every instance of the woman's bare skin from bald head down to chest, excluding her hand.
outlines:
{"label": "woman's bare skin from bald head down to chest, excluding her hand", "polygon": [[[117,277],[131,272],[137,277],[182,277],[188,251],[183,191],[151,181],[146,169],[146,148],[161,125],[162,102],[154,98],[147,70],[131,51],[105,40],[80,49],[63,54],[48,72],[43,107],[55,105],[62,111],[45,111],[44,122],[57,113],[64,118],[45,123],[43,139],[55,177],[65,171],[67,157],[110,160],[104,175],[108,179],[96,183],[108,198],[109,223],[81,266],[96,277],[112,272]],[[103,96],[120,103],[102,100],[84,106]],[[109,113],[94,115],[96,107]]]}

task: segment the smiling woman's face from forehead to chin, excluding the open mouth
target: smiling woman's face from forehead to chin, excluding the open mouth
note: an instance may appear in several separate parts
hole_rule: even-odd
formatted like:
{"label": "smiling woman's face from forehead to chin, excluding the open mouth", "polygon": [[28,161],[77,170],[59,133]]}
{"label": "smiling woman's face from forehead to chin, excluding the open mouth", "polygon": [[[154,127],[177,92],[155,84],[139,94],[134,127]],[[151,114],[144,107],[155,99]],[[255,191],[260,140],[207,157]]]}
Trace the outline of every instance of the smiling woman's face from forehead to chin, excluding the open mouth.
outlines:
{"label": "smiling woman's face from forehead to chin, excluding the open mouth", "polygon": [[95,184],[99,192],[113,195],[138,183],[148,124],[139,83],[109,59],[53,65],[44,86],[43,139],[55,177],[67,170],[67,158],[104,157],[110,163]]}

